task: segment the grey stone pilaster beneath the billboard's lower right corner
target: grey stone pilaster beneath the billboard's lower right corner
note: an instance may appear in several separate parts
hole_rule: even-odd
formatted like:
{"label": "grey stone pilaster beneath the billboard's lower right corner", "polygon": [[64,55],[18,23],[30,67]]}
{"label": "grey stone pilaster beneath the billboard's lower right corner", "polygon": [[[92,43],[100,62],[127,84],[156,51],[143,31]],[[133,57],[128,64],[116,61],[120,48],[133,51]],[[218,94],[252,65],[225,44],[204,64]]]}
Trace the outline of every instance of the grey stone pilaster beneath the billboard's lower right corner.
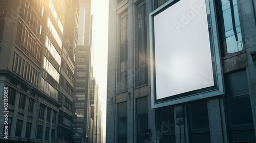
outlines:
{"label": "grey stone pilaster beneath the billboard's lower right corner", "polygon": [[219,99],[210,99],[208,101],[208,116],[210,127],[210,139],[212,143],[222,143],[222,118]]}

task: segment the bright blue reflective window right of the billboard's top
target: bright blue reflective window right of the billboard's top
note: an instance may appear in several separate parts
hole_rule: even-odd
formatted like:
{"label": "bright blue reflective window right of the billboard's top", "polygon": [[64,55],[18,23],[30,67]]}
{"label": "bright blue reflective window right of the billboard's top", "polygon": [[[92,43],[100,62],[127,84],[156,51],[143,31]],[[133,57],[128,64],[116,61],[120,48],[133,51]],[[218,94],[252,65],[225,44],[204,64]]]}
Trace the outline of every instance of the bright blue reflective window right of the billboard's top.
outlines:
{"label": "bright blue reflective window right of the billboard's top", "polygon": [[237,0],[221,0],[220,27],[223,43],[222,56],[243,50],[243,40],[240,27]]}

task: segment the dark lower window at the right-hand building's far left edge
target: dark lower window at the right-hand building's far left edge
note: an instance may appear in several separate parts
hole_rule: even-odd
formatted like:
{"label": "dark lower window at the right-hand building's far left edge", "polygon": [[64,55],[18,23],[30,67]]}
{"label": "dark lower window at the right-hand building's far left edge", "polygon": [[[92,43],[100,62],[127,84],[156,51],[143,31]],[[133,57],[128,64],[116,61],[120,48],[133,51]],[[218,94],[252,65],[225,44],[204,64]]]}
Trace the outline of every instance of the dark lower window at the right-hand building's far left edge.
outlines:
{"label": "dark lower window at the right-hand building's far left edge", "polygon": [[118,143],[127,142],[127,102],[118,103]]}

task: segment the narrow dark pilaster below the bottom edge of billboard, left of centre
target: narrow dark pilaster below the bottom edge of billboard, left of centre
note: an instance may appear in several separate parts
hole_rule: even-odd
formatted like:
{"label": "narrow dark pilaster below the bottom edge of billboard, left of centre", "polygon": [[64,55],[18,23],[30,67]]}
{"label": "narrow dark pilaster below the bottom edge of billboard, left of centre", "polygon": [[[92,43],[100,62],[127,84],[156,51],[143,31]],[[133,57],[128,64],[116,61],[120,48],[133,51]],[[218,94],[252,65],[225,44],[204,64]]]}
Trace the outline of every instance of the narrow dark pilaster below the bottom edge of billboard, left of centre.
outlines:
{"label": "narrow dark pilaster below the bottom edge of billboard, left of centre", "polygon": [[177,143],[185,142],[183,105],[174,108],[175,137]]}

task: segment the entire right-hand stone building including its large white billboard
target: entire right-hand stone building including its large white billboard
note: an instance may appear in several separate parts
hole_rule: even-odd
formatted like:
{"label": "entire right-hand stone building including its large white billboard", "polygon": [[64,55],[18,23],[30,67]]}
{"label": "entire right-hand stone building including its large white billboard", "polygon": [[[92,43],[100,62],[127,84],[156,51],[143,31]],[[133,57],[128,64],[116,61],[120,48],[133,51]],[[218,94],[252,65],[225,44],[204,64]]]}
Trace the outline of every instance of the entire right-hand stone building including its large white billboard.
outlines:
{"label": "entire right-hand stone building including its large white billboard", "polygon": [[[255,9],[251,0],[110,1],[106,142],[255,142]],[[194,76],[208,70],[197,56],[207,48],[212,74]]]}

